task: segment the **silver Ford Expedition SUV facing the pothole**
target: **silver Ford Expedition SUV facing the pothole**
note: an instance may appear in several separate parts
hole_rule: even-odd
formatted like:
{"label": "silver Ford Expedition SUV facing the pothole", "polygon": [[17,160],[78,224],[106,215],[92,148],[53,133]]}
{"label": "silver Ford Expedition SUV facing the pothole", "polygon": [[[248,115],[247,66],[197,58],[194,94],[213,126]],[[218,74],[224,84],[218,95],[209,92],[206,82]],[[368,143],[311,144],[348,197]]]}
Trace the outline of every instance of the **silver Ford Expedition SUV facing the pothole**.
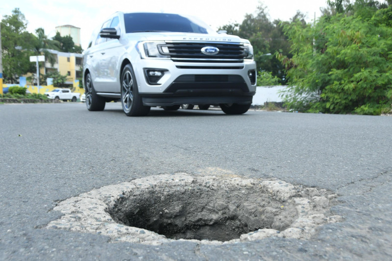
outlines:
{"label": "silver Ford Expedition SUV facing the pothole", "polygon": [[256,91],[248,40],[177,14],[113,14],[93,34],[83,70],[87,109],[121,99],[127,116],[181,104],[219,104],[226,114],[243,114]]}

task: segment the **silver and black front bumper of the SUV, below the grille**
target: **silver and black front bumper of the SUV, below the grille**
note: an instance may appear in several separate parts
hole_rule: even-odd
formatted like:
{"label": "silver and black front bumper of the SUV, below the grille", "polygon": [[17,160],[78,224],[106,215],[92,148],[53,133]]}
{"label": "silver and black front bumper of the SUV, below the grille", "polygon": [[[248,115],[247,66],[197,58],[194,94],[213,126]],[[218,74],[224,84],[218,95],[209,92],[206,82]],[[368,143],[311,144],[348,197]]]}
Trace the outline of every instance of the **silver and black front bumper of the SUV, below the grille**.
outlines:
{"label": "silver and black front bumper of the SUV, below the grille", "polygon": [[[249,71],[255,73],[255,62],[195,64],[141,60],[139,65],[134,71],[146,106],[250,104],[256,91],[255,77],[248,75]],[[165,70],[156,84],[148,83],[145,71],[149,68]]]}

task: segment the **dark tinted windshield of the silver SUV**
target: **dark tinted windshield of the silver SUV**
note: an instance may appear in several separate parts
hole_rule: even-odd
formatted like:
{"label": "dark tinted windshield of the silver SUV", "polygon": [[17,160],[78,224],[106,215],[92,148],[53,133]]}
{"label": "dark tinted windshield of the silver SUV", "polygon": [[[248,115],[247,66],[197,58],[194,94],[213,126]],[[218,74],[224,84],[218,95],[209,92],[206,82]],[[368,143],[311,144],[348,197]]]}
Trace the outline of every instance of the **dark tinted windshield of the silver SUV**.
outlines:
{"label": "dark tinted windshield of the silver SUV", "polygon": [[176,14],[130,13],[124,14],[125,32],[183,32],[212,33],[214,30],[196,18]]}

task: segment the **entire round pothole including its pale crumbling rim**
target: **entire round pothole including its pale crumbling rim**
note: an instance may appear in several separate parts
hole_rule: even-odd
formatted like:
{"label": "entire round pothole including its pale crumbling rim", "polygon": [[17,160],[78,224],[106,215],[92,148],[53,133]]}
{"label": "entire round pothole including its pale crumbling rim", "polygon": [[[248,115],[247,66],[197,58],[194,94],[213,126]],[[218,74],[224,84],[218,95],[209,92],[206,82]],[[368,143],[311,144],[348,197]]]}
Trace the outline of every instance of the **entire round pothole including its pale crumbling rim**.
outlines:
{"label": "entire round pothole including its pale crumbling rim", "polygon": [[336,194],[277,179],[157,175],[102,187],[60,202],[49,229],[98,233],[115,241],[234,243],[309,238],[331,215]]}

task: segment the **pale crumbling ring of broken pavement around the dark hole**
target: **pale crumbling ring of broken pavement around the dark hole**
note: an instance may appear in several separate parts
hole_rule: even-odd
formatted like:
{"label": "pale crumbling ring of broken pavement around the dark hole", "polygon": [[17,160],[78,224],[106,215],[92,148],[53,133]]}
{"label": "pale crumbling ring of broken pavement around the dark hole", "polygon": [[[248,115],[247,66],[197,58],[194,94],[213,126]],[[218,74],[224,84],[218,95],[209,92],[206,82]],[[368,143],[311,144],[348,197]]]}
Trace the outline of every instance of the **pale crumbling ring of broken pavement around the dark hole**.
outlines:
{"label": "pale crumbling ring of broken pavement around the dark hole", "polygon": [[262,190],[270,193],[270,196],[275,199],[283,202],[293,201],[298,218],[284,231],[259,229],[243,234],[238,239],[224,242],[196,239],[178,239],[179,241],[186,240],[198,244],[217,245],[260,240],[266,237],[309,239],[315,234],[316,228],[320,225],[343,220],[343,217],[339,215],[328,216],[330,214],[331,201],[337,198],[337,195],[324,189],[303,188],[302,186],[294,186],[278,179],[243,178],[230,173],[212,176],[174,173],[148,176],[130,182],[109,185],[61,201],[52,211],[60,211],[63,215],[49,222],[45,228],[99,234],[110,237],[111,242],[126,241],[149,245],[169,243],[175,241],[175,239],[167,238],[146,229],[116,223],[106,210],[112,208],[117,200],[124,197],[125,191],[143,191],[157,186],[173,184],[181,188],[190,186],[195,179],[212,186],[221,186],[222,182],[243,187],[258,184]]}

